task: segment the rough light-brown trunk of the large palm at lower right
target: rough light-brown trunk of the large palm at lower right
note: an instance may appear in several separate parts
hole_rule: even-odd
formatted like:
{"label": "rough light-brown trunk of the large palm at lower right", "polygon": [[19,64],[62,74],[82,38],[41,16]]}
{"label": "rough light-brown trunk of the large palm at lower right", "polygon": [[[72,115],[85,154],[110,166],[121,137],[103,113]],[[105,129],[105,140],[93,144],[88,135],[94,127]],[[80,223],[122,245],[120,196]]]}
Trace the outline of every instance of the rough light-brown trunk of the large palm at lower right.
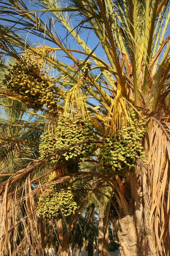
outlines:
{"label": "rough light-brown trunk of the large palm at lower right", "polygon": [[[119,218],[121,231],[117,232],[122,256],[153,255],[155,253],[153,237],[148,228],[142,200],[139,195],[135,173],[129,174],[130,188],[133,200],[133,215]],[[119,201],[118,201],[119,203]],[[125,207],[125,205],[124,205]],[[127,209],[128,210],[128,209]],[[148,212],[147,212],[148,214]],[[146,226],[147,225],[147,226]]]}

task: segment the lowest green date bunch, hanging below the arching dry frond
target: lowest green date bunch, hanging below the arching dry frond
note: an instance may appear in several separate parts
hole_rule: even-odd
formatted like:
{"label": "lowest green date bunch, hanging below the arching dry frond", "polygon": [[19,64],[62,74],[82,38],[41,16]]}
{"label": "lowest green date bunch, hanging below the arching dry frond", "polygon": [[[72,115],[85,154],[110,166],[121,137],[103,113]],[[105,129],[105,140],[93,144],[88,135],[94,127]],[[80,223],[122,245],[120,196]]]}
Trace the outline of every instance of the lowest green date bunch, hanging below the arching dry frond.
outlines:
{"label": "lowest green date bunch, hanging below the arching dry frond", "polygon": [[45,189],[39,197],[36,214],[45,220],[68,217],[79,212],[71,187],[60,189],[54,185]]}

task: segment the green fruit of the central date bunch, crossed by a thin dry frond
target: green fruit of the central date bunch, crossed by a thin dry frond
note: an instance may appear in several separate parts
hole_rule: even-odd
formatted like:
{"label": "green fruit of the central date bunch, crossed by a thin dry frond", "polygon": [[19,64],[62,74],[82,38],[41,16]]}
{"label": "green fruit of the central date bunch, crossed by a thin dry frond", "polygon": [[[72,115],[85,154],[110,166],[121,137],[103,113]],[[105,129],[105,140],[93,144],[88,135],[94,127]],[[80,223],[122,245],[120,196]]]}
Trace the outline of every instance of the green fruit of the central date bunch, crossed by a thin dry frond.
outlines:
{"label": "green fruit of the central date bunch, crossed by a thin dry frond", "polygon": [[75,161],[91,156],[95,151],[95,145],[94,143],[85,143],[85,141],[94,140],[91,119],[83,119],[82,116],[79,115],[74,118],[61,116],[58,120],[55,140],[56,143],[54,147],[58,150],[75,143],[82,142],[82,144],[73,145],[60,155],[56,155],[53,159],[51,158],[53,163],[57,160]]}

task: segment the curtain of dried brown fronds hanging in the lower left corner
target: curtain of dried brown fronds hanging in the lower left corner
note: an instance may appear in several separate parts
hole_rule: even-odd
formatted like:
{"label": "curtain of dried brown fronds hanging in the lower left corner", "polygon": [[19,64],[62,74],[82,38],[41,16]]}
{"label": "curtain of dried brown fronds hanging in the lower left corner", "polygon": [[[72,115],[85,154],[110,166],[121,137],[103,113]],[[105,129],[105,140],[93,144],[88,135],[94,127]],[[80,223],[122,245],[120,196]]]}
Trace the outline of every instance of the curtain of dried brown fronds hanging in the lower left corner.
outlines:
{"label": "curtain of dried brown fronds hanging in the lower left corner", "polygon": [[[14,176],[11,179],[15,180],[15,183],[8,181],[4,184],[5,190],[1,190],[0,252],[4,256],[28,256],[30,250],[36,251],[36,256],[40,256],[46,244],[52,243],[53,233],[56,232],[51,220],[44,221],[36,214],[37,194],[46,189],[51,181],[47,180],[43,186],[40,185],[33,189],[32,184],[35,179],[31,180],[31,171],[29,175],[25,172],[23,184],[21,176],[17,180]],[[55,183],[63,180],[64,178],[59,178],[55,180]],[[61,232],[56,234],[58,235],[61,239]]]}

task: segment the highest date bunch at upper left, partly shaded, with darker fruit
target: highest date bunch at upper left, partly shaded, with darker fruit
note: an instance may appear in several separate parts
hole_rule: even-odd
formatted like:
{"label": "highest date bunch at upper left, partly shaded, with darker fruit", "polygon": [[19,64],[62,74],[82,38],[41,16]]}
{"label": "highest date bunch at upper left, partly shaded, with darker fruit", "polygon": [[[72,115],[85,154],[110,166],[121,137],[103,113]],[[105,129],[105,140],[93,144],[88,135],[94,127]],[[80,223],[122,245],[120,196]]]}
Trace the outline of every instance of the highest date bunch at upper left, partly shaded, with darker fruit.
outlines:
{"label": "highest date bunch at upper left, partly shaded, with darker fruit", "polygon": [[26,52],[21,57],[21,61],[16,61],[8,68],[8,74],[3,83],[20,95],[28,107],[55,108],[59,102],[59,96],[54,92],[55,84],[41,70],[44,65],[42,63],[40,65],[31,52]]}

